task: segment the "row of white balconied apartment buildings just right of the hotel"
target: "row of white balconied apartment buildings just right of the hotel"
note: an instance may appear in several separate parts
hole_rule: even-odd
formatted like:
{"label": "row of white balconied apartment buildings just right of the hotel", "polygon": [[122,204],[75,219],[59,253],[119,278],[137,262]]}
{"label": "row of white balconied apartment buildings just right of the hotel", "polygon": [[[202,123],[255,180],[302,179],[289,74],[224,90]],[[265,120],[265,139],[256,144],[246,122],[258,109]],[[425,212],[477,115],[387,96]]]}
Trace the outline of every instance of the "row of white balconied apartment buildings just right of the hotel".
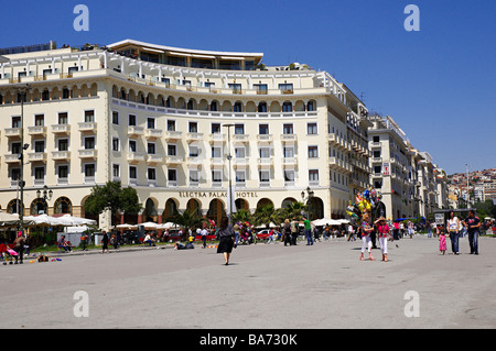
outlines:
{"label": "row of white balconied apartment buildings just right of the hotel", "polygon": [[416,150],[391,117],[371,116],[370,121],[371,185],[382,194],[388,219],[427,217],[448,208],[448,178],[431,155]]}

